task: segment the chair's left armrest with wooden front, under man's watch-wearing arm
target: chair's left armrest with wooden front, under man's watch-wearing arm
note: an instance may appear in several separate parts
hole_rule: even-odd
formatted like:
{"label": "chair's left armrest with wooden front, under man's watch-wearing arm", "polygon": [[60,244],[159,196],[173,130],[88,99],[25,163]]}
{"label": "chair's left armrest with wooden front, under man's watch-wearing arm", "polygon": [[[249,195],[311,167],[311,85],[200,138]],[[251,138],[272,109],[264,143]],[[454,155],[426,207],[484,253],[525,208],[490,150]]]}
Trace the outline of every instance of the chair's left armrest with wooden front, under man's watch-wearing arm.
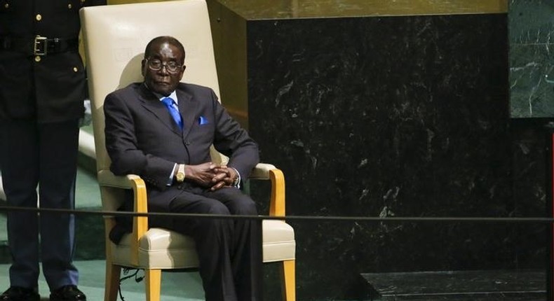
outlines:
{"label": "chair's left armrest with wooden front, under man's watch-wearing arm", "polygon": [[[144,180],[136,174],[128,174],[126,176],[116,176],[109,170],[101,170],[98,172],[98,183],[100,186],[109,186],[113,188],[132,189],[134,199],[134,211],[137,213],[147,213],[147,190]],[[131,233],[130,241],[130,259],[133,264],[138,265],[138,243],[148,231],[148,217],[135,216],[133,217],[133,232]]]}

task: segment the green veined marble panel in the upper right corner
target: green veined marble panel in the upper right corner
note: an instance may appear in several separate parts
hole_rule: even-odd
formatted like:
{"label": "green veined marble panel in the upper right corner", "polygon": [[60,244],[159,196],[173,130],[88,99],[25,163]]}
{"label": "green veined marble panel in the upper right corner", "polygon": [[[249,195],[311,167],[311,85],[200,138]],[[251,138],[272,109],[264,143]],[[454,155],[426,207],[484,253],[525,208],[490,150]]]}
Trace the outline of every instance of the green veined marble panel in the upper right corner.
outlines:
{"label": "green veined marble panel in the upper right corner", "polygon": [[554,117],[554,3],[510,0],[511,116]]}

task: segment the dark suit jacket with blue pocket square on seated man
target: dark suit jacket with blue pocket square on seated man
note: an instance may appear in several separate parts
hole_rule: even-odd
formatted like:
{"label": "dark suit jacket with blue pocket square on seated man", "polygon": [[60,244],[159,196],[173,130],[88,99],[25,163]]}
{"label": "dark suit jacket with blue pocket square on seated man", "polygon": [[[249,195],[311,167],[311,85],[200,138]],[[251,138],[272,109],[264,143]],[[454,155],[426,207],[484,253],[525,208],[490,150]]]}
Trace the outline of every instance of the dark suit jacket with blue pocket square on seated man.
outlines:
{"label": "dark suit jacket with blue pocket square on seated man", "polygon": [[106,148],[112,172],[137,174],[148,185],[151,211],[168,211],[180,190],[167,183],[175,163],[210,162],[210,145],[229,156],[242,179],[259,162],[258,148],[248,133],[229,116],[208,87],[180,83],[180,130],[166,107],[143,83],[107,95],[104,102]]}

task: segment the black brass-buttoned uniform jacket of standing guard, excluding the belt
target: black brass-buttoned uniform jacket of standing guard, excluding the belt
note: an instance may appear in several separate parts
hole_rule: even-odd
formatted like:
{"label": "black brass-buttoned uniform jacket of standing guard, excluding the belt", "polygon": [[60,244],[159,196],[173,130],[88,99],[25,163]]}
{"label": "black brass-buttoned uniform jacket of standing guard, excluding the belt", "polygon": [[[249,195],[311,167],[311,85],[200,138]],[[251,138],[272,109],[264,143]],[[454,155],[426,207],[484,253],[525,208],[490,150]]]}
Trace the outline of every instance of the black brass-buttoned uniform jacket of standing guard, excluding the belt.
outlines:
{"label": "black brass-buttoned uniform jacket of standing guard, excluding the belt", "polygon": [[[106,0],[0,0],[0,37],[78,38],[79,9]],[[36,57],[0,48],[0,121],[41,123],[83,115],[86,75],[76,50]]]}

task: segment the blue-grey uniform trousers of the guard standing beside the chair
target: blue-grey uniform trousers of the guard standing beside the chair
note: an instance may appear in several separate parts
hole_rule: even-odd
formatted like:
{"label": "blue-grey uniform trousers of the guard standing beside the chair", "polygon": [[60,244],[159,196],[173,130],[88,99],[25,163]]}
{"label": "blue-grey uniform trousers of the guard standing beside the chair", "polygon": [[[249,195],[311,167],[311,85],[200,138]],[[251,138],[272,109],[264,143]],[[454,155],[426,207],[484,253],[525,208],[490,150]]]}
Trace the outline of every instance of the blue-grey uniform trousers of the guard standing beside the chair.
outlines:
{"label": "blue-grey uniform trousers of the guard standing beside the chair", "polygon": [[[79,127],[77,120],[0,123],[0,169],[8,206],[73,209]],[[40,243],[39,243],[40,235]],[[51,290],[76,284],[72,264],[74,216],[8,212],[12,286],[36,288],[39,260]]]}

